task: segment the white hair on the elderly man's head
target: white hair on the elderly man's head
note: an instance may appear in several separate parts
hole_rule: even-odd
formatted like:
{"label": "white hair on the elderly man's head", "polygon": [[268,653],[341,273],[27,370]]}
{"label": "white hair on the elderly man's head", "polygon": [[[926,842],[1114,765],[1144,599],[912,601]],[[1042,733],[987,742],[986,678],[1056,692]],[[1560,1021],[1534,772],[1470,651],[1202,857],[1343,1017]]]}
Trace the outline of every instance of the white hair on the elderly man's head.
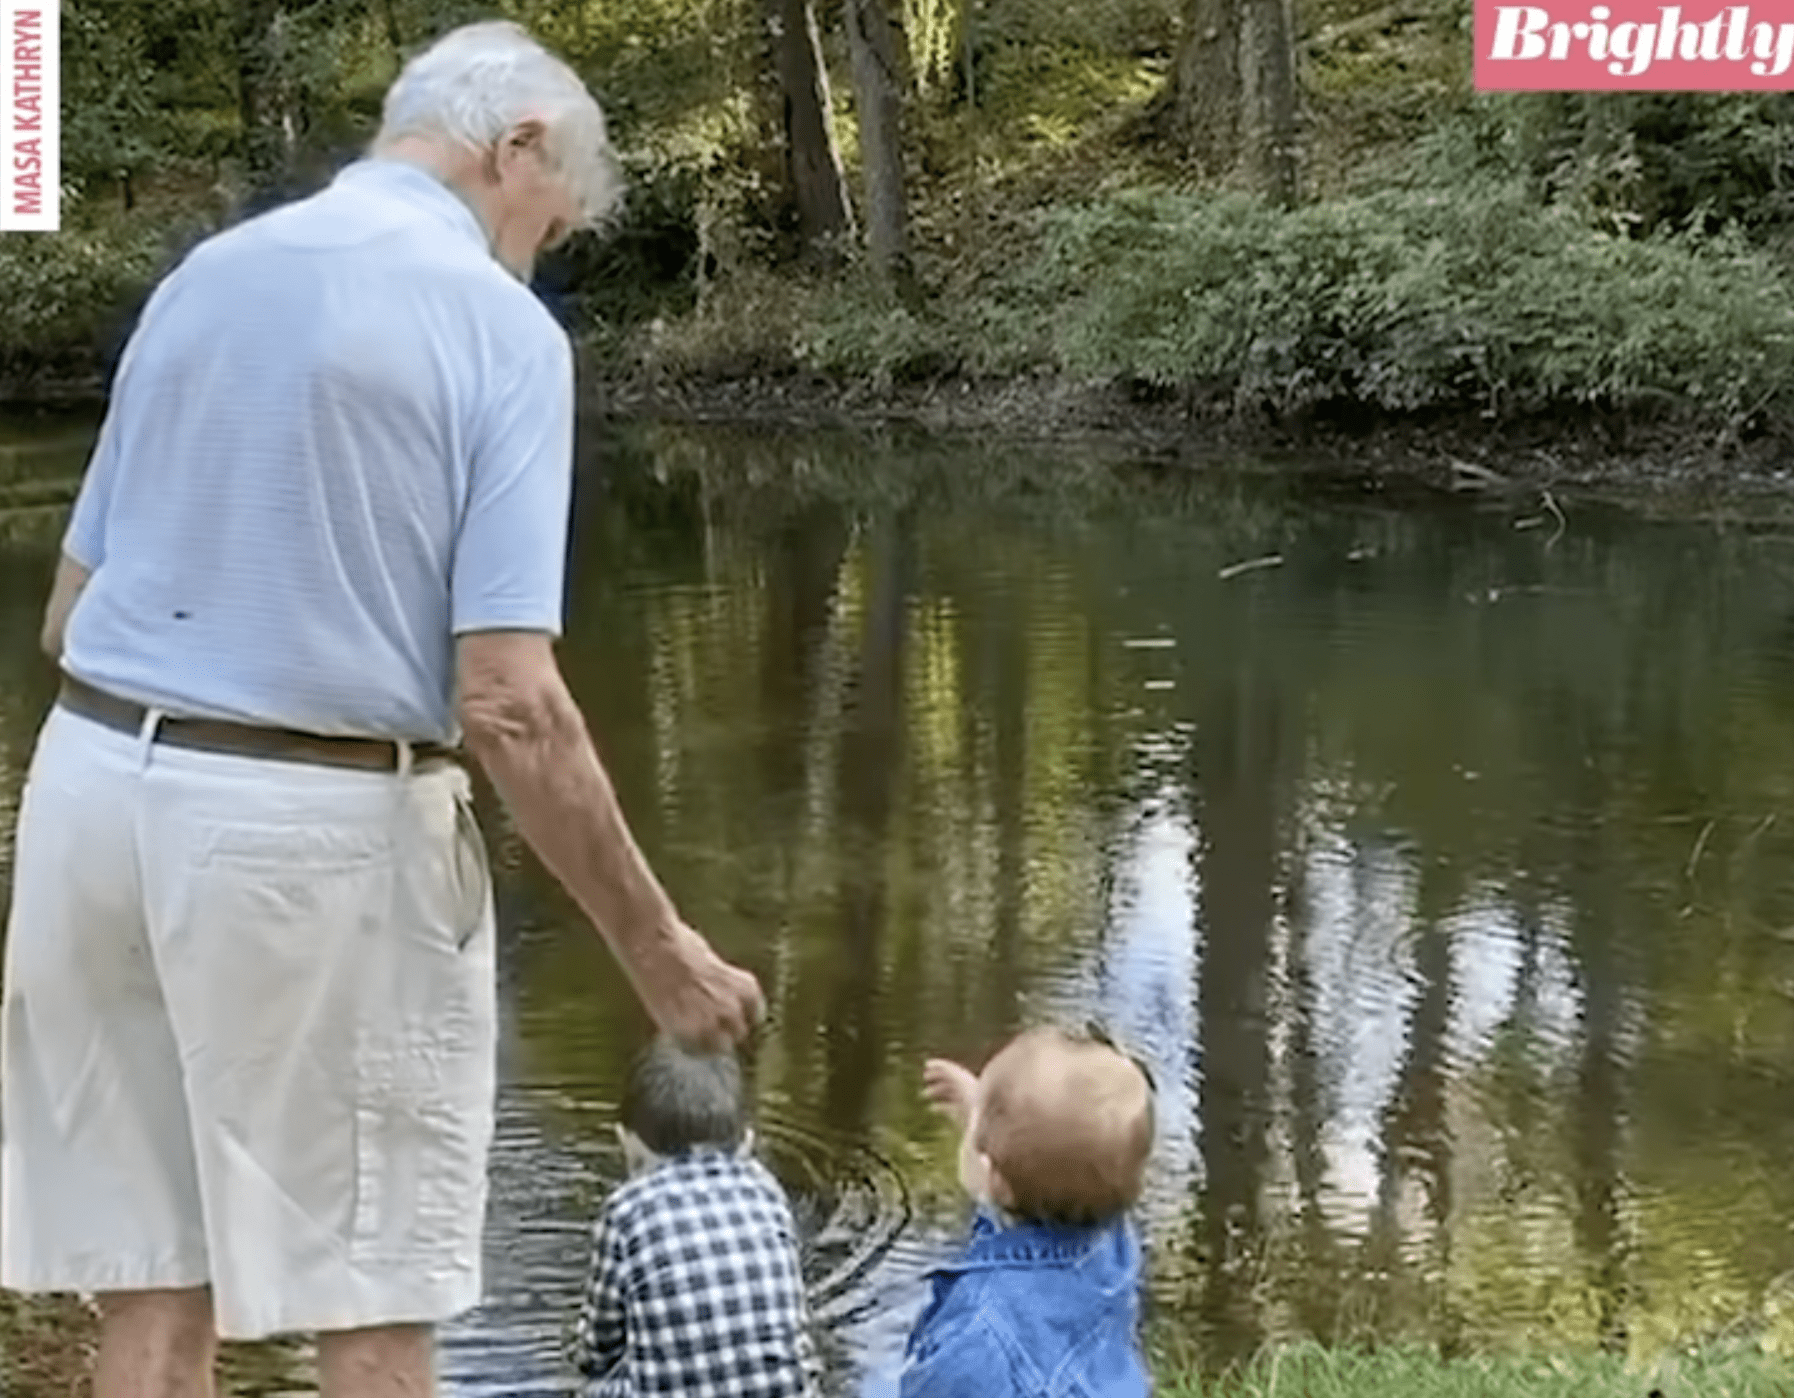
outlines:
{"label": "white hair on the elderly man's head", "polygon": [[588,223],[623,196],[605,113],[585,83],[509,20],[443,34],[386,93],[375,149],[400,136],[445,136],[481,151],[518,122],[547,127],[547,153]]}

